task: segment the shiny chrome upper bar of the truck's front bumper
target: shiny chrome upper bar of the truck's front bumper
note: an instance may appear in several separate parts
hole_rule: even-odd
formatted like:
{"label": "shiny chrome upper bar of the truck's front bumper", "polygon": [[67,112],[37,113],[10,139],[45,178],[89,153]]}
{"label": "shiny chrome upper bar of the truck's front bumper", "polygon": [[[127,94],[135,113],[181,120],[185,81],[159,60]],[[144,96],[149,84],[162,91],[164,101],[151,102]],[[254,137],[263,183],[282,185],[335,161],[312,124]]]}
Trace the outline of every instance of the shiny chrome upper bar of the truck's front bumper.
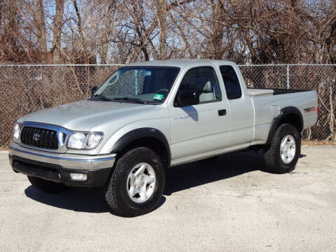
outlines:
{"label": "shiny chrome upper bar of the truck's front bumper", "polygon": [[[76,155],[69,153],[48,153],[25,148],[16,143],[9,145],[8,154],[11,157],[17,156],[27,160],[59,165],[66,169],[95,170],[111,168],[116,161],[116,154],[108,155]],[[13,164],[11,164],[13,165]]]}

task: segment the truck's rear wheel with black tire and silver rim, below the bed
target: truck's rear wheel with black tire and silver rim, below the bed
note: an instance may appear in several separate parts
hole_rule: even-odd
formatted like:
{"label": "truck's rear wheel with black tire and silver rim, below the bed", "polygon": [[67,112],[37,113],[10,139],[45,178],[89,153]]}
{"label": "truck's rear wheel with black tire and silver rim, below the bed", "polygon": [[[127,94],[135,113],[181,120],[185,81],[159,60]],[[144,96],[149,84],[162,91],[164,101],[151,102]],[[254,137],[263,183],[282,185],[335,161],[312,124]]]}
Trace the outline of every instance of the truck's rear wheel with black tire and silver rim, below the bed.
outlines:
{"label": "truck's rear wheel with black tire and silver rim, below the bed", "polygon": [[271,145],[264,150],[264,160],[269,172],[285,174],[295,169],[300,153],[300,133],[293,125],[283,124],[276,130]]}

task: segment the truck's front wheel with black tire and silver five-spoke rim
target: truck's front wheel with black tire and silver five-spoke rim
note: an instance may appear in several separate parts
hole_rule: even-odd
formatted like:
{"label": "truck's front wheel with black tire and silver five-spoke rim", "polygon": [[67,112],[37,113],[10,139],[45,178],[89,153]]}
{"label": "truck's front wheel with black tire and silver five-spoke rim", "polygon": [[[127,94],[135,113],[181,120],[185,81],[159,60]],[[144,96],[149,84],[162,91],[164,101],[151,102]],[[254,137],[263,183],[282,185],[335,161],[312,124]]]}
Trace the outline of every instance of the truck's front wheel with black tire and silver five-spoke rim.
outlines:
{"label": "truck's front wheel with black tire and silver five-spoke rim", "polygon": [[164,188],[165,168],[162,160],[149,148],[134,148],[116,162],[105,200],[113,214],[140,216],[155,209]]}

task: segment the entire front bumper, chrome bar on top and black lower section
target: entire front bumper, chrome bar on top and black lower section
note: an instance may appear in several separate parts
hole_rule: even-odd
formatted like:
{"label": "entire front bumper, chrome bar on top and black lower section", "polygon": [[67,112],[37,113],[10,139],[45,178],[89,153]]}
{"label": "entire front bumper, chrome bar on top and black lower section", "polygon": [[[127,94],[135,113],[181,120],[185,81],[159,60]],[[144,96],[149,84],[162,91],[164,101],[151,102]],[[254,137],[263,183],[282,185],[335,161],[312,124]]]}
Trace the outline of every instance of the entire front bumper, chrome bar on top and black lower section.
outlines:
{"label": "entire front bumper, chrome bar on top and black lower section", "polygon": [[[66,186],[103,186],[116,160],[116,154],[48,153],[25,148],[16,143],[11,143],[9,148],[10,165],[15,172],[62,182]],[[71,173],[87,174],[87,179],[72,180]]]}

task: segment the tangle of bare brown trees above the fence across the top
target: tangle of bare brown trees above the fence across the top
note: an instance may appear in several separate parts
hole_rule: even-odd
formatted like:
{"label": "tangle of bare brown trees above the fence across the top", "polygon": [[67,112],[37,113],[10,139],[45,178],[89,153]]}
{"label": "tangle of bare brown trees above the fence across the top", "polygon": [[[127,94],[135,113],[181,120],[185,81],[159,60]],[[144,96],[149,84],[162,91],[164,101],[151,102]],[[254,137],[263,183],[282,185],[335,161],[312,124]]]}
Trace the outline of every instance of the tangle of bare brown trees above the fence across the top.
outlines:
{"label": "tangle of bare brown trees above the fence across the top", "polygon": [[0,61],[335,63],[335,20],[335,0],[0,0]]}

